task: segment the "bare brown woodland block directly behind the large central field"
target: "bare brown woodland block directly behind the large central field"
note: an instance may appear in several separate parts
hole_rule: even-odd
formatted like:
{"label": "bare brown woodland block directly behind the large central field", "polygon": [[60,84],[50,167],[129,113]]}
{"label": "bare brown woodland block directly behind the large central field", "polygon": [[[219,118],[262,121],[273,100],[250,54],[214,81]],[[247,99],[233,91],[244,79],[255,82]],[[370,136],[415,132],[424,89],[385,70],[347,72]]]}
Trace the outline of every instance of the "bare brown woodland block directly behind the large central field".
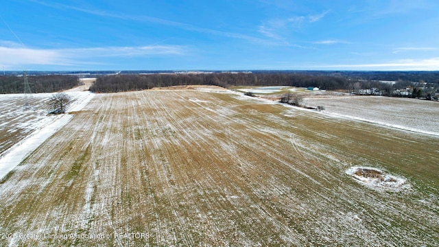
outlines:
{"label": "bare brown woodland block directly behind the large central field", "polygon": [[346,87],[346,79],[328,75],[296,73],[165,73],[150,75],[107,75],[97,78],[93,92],[121,92],[162,86],[318,86],[322,89]]}

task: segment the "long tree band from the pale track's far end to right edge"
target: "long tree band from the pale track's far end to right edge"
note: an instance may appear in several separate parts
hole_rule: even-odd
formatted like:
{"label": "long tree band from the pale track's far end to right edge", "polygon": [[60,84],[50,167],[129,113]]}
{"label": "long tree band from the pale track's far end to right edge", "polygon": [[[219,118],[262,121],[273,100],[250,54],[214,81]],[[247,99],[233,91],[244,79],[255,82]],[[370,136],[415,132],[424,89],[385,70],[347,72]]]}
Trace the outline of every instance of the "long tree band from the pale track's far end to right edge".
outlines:
{"label": "long tree band from the pale track's far end to right edge", "polygon": [[[321,72],[306,73],[270,72],[270,73],[156,73],[156,74],[117,74],[97,78],[90,90],[101,93],[121,91],[137,91],[163,86],[184,85],[215,85],[229,88],[230,86],[316,86],[324,90],[343,90],[349,93],[363,95],[384,95],[395,97],[419,97],[434,99],[439,95],[439,78],[436,73],[414,72],[414,74],[429,75],[431,82],[413,82],[412,80],[397,80],[394,83],[370,80],[380,77],[404,75],[407,78],[412,73],[406,72]],[[358,77],[357,77],[358,75]],[[361,76],[364,77],[361,77]],[[384,76],[385,75],[385,76]],[[439,73],[438,73],[439,75]],[[398,77],[400,76],[400,77]],[[416,77],[417,78],[417,77]],[[426,78],[424,78],[426,79]],[[435,96],[436,95],[436,96]]]}

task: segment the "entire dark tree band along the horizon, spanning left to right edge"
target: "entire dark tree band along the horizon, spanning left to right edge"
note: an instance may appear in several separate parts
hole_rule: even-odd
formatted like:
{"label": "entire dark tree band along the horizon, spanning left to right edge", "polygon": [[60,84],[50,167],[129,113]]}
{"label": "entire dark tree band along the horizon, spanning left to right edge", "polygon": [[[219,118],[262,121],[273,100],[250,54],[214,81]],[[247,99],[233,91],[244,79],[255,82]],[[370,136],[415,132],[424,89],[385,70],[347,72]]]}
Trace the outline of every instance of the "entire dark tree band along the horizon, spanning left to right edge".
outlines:
{"label": "entire dark tree band along the horizon, spanning left to right edge", "polygon": [[[112,93],[163,86],[316,86],[347,91],[379,89],[391,93],[407,86],[439,87],[439,71],[27,71],[34,93],[78,86],[78,78],[97,78],[90,90]],[[51,75],[47,75],[51,73]],[[391,82],[391,83],[386,83]],[[414,85],[414,82],[418,84]],[[22,93],[23,75],[0,75],[0,93]],[[385,94],[385,93],[384,93]]]}

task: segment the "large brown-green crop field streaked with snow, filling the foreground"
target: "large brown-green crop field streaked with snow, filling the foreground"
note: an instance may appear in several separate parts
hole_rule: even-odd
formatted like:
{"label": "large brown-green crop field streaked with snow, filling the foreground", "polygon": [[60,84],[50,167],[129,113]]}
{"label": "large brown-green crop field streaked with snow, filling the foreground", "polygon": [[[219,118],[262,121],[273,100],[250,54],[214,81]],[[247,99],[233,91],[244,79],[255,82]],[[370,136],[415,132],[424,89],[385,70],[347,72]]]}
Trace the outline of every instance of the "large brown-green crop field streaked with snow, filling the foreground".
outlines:
{"label": "large brown-green crop field streaked with snow, filling the foreground", "polygon": [[434,246],[438,146],[227,91],[97,94],[0,181],[0,246]]}

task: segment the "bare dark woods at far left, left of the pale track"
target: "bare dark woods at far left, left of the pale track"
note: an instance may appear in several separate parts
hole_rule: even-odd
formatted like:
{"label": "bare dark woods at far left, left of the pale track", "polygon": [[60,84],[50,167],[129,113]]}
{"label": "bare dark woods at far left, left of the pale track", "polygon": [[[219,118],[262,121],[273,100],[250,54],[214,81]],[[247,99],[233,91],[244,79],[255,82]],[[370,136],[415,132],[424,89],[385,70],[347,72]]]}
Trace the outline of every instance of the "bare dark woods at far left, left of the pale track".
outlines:
{"label": "bare dark woods at far left, left of the pale track", "polygon": [[[29,87],[32,93],[53,93],[71,89],[79,85],[75,75],[32,75],[28,76]],[[23,93],[23,76],[0,76],[0,93]]]}

